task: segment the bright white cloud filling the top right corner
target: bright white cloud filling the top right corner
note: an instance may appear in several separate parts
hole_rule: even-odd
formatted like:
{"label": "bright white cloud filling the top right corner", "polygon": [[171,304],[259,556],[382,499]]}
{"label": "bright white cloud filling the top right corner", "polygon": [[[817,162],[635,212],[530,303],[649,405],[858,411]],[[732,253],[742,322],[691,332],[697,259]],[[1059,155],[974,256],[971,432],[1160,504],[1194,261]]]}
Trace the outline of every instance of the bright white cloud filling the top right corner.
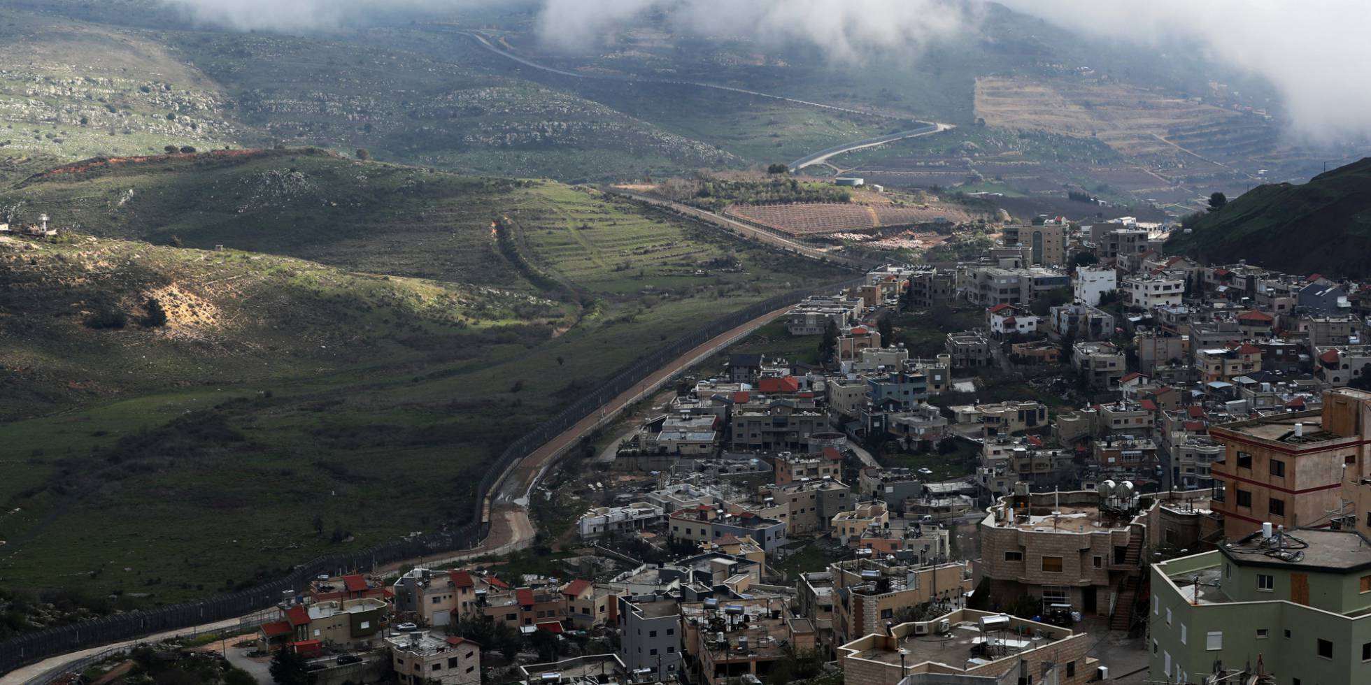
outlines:
{"label": "bright white cloud filling the top right corner", "polygon": [[1366,0],[1006,0],[1086,36],[1197,45],[1212,62],[1261,77],[1293,132],[1311,142],[1371,134],[1371,3]]}

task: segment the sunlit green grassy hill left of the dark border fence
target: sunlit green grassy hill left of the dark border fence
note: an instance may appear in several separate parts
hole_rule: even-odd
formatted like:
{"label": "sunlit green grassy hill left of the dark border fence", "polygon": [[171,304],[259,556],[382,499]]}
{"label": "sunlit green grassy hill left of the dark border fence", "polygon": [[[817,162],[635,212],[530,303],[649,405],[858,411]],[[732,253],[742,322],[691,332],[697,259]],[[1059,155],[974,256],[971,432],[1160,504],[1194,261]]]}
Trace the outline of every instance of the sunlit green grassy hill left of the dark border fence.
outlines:
{"label": "sunlit green grassy hill left of the dark border fence", "polygon": [[846,275],[584,188],[310,151],[78,164],[0,211],[80,227],[0,244],[0,584],[144,603],[465,522],[598,379]]}

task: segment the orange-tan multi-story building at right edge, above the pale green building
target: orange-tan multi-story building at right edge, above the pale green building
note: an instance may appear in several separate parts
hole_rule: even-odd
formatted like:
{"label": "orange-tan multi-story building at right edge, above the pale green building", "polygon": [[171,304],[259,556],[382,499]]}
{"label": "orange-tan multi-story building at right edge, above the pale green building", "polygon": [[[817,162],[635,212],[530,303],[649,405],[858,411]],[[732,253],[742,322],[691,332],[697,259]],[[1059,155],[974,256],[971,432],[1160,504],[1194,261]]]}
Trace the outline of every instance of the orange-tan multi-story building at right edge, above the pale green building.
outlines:
{"label": "orange-tan multi-story building at right edge, above the pale green building", "polygon": [[1318,525],[1341,511],[1344,477],[1367,474],[1371,393],[1326,390],[1318,411],[1276,414],[1209,426],[1224,458],[1211,467],[1213,510],[1231,538],[1263,522],[1287,529]]}

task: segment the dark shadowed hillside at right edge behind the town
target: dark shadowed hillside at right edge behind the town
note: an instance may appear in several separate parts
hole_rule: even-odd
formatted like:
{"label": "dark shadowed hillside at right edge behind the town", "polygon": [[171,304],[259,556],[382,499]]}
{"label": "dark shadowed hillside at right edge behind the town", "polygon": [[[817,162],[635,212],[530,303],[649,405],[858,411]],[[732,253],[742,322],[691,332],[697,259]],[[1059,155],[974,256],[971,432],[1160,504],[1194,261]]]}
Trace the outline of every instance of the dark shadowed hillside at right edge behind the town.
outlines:
{"label": "dark shadowed hillside at right edge behind the town", "polygon": [[1168,253],[1237,262],[1294,274],[1360,278],[1371,274],[1371,158],[1308,184],[1261,185],[1217,212],[1186,222]]}

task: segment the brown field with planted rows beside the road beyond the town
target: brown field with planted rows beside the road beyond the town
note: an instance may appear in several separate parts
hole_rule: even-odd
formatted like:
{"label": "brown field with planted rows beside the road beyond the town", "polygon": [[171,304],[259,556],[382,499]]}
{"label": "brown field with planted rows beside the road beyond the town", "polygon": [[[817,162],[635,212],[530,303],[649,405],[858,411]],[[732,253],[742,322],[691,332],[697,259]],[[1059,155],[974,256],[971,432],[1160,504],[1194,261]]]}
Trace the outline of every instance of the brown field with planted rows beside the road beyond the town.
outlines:
{"label": "brown field with planted rows beside the road beyond the town", "polygon": [[843,233],[972,216],[950,206],[895,204],[733,204],[727,212],[792,234]]}

